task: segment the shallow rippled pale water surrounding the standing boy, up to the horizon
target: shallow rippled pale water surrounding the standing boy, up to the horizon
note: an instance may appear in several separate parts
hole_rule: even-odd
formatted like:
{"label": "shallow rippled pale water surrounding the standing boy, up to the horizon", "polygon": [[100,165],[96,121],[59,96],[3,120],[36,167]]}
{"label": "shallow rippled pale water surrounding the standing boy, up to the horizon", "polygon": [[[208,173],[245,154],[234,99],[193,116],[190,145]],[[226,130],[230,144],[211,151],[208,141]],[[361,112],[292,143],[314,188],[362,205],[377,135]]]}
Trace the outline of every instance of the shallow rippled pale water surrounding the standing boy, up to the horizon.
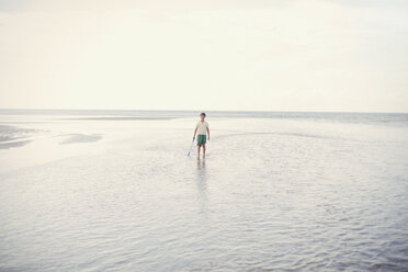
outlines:
{"label": "shallow rippled pale water surrounding the standing boy, up to the horizon", "polygon": [[0,110],[0,271],[408,271],[408,114]]}

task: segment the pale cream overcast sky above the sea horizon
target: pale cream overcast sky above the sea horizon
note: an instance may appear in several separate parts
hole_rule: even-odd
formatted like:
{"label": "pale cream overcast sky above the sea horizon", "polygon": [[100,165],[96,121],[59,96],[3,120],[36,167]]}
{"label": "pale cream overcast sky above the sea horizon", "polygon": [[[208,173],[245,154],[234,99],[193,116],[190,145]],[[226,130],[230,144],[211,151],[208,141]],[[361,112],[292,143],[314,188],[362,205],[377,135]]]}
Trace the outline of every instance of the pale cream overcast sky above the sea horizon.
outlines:
{"label": "pale cream overcast sky above the sea horizon", "polygon": [[0,0],[0,107],[408,112],[408,1]]}

